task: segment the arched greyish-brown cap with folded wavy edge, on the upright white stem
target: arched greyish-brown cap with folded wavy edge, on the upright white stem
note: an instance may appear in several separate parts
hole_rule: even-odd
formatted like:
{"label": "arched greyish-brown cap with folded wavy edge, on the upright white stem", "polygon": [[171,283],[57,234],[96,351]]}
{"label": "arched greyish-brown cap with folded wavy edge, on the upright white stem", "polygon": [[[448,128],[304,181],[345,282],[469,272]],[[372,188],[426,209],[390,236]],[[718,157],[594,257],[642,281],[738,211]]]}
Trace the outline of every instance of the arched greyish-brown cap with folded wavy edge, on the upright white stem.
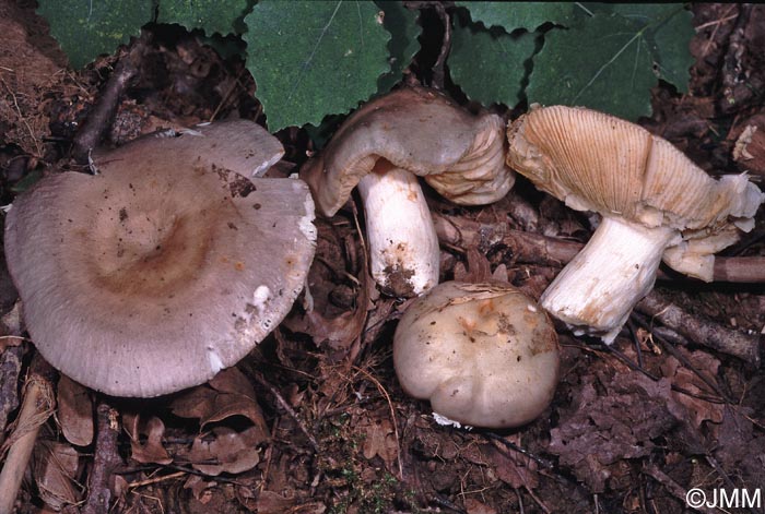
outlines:
{"label": "arched greyish-brown cap with folded wavy edge, on the upright white stem", "polygon": [[473,116],[438,92],[402,88],[354,112],[301,177],[326,216],[342,207],[379,158],[425,177],[456,203],[492,203],[515,181],[504,163],[504,127],[501,117]]}

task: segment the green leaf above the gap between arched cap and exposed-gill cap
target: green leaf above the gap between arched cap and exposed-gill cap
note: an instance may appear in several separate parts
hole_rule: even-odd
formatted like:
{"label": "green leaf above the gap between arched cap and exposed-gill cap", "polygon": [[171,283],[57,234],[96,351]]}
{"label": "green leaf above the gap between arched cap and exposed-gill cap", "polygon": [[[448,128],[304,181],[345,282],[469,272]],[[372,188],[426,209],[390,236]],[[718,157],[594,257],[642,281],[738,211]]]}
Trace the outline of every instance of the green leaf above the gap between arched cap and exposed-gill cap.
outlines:
{"label": "green leaf above the gap between arched cap and exposed-gill cap", "polygon": [[449,72],[471,99],[483,105],[514,106],[521,99],[523,65],[534,51],[532,33],[490,34],[476,25],[462,26],[455,17]]}

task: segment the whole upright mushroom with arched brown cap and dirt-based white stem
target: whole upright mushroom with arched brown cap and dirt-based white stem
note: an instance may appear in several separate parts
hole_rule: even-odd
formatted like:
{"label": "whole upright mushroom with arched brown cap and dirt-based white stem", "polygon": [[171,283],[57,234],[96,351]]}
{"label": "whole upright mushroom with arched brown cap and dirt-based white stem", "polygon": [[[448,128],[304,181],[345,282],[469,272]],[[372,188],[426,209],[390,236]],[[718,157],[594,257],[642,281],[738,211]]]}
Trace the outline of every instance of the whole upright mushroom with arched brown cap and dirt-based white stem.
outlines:
{"label": "whole upright mushroom with arched brown cap and dirt-based white stem", "polygon": [[381,96],[353,113],[301,170],[318,211],[333,216],[358,184],[372,275],[399,296],[438,283],[438,238],[416,176],[461,205],[499,200],[515,180],[503,120],[472,116],[422,87]]}

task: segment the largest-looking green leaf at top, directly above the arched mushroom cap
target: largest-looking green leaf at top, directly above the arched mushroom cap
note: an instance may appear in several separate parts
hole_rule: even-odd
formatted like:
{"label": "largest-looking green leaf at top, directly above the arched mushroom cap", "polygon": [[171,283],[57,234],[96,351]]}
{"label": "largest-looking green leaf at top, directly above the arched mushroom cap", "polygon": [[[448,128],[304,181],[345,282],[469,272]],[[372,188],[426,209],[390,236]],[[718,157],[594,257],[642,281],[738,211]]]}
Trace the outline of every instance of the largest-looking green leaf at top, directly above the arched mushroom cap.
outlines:
{"label": "largest-looking green leaf at top, directly above the arched mushroom cap", "polygon": [[274,132],[348,112],[390,70],[372,2],[261,0],[245,23],[247,68]]}

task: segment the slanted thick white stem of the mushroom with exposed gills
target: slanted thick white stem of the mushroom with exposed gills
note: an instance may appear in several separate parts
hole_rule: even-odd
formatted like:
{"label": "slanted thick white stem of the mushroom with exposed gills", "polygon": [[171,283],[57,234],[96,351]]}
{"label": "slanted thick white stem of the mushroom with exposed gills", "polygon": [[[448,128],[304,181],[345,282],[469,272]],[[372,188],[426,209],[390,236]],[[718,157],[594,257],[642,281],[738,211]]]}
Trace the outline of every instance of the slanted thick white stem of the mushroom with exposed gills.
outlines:
{"label": "slanted thick white stem of the mushroom with exposed gills", "polygon": [[575,333],[597,335],[610,344],[635,303],[654,287],[664,249],[678,237],[671,228],[603,217],[540,303]]}

